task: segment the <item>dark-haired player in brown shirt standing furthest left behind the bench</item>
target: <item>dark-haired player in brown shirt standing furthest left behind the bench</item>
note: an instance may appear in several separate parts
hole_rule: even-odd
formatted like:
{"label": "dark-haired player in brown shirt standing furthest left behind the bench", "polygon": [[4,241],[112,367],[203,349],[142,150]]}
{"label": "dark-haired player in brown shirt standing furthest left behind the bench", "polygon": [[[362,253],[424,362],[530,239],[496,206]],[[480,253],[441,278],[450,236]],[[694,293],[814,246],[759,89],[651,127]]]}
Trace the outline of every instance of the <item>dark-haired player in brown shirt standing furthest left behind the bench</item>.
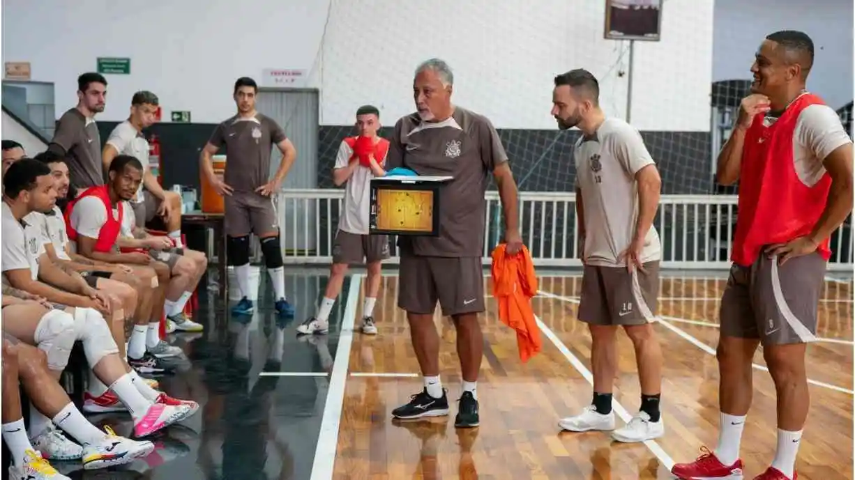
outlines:
{"label": "dark-haired player in brown shirt standing furthest left behind the bench", "polygon": [[107,79],[100,73],[84,73],[77,78],[77,106],[56,122],[48,149],[68,159],[72,191],[104,183],[101,167],[101,134],[95,114],[107,104]]}

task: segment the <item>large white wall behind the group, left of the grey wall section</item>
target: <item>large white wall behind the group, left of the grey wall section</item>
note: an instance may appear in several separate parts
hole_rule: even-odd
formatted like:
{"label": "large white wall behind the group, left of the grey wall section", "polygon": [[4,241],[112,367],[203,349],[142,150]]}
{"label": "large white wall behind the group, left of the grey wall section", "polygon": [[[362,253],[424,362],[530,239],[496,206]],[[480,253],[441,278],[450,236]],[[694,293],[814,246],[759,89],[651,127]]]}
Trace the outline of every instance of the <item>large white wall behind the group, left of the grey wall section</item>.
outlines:
{"label": "large white wall behind the group, left of the grey wall section", "polygon": [[[366,102],[391,123],[413,109],[416,64],[439,56],[455,69],[456,102],[498,127],[555,128],[551,80],[573,67],[598,75],[604,108],[625,114],[627,43],[603,39],[601,1],[245,0],[237,7],[226,0],[43,0],[38,6],[3,1],[3,61],[31,61],[33,79],[56,82],[57,113],[76,101],[79,73],[93,70],[98,56],[120,56],[131,57],[132,74],[109,75],[103,120],[124,118],[133,91],[146,89],[161,97],[167,118],[170,110],[191,110],[195,122],[221,121],[233,113],[237,77],[304,68],[310,85],[321,89],[322,124],[351,124],[354,109]],[[713,0],[665,2],[663,41],[636,44],[632,120],[640,129],[709,129],[712,11]]]}

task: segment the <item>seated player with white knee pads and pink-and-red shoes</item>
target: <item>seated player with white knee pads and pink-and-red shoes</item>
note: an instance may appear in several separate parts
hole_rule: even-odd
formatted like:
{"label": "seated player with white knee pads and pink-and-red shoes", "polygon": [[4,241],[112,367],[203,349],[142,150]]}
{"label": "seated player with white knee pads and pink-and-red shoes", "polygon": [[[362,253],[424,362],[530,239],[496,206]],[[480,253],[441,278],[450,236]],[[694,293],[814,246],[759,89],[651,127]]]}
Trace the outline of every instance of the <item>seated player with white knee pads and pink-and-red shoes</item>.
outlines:
{"label": "seated player with white knee pads and pink-and-red shoes", "polygon": [[82,342],[92,373],[84,395],[84,410],[103,412],[122,406],[133,417],[135,436],[148,436],[186,419],[198,410],[198,404],[175,400],[144,383],[120,354],[119,344],[124,348],[124,320],[108,323],[101,313],[110,313],[103,295],[86,284],[80,274],[55,265],[44,253],[41,232],[27,222],[27,216],[49,210],[55,201],[50,168],[44,163],[17,161],[3,177],[3,281],[27,294],[61,304],[54,307],[65,313],[44,315],[30,322],[4,315],[3,331],[38,343],[46,351],[51,370],[57,372],[56,378],[68,365],[74,342]]}

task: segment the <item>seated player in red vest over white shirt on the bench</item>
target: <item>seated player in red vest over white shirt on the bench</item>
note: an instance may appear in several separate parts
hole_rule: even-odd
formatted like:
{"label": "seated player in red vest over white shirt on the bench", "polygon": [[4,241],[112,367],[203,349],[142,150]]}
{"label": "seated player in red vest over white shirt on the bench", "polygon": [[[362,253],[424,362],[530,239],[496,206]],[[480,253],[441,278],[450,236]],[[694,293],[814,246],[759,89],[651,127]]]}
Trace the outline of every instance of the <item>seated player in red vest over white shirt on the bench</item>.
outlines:
{"label": "seated player in red vest over white shirt on the bench", "polygon": [[[152,316],[151,322],[159,321],[165,308],[167,319],[178,330],[201,331],[203,326],[188,319],[184,307],[208,269],[208,260],[202,252],[175,249],[168,237],[152,236],[136,226],[128,201],[136,195],[142,171],[133,156],[117,155],[110,163],[108,183],[86,190],[69,204],[68,236],[77,243],[77,252],[92,260],[153,266],[165,287],[164,300],[156,300],[158,316]],[[129,351],[128,358],[137,358],[137,353]]]}

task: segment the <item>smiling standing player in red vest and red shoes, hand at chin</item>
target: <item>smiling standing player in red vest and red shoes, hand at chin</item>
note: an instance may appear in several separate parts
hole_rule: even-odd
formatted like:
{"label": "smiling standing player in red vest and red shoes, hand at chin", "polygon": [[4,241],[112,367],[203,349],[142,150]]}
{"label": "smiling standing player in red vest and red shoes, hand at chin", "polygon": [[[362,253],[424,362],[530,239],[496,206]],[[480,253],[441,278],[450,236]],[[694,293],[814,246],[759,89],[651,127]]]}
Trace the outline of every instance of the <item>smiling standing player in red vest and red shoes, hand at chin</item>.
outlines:
{"label": "smiling standing player in red vest and red shoes, hand at chin", "polygon": [[743,474],[740,440],[752,401],[758,345],[777,394],[775,460],[755,480],[795,480],[810,396],[805,349],[817,339],[828,237],[852,211],[852,139],[840,117],[805,90],[813,42],[770,34],[751,71],[752,94],[718,155],[719,183],[740,182],[728,286],[719,311],[718,445],[674,465],[680,478]]}

